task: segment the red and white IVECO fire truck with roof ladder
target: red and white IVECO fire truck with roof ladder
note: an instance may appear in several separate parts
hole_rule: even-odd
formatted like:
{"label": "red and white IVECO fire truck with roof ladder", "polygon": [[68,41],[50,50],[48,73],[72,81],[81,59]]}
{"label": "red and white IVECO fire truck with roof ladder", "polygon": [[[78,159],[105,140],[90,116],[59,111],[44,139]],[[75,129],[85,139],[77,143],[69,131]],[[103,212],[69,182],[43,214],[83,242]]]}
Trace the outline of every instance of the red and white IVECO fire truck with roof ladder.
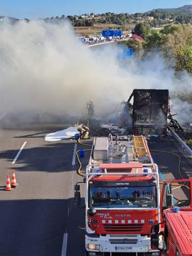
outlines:
{"label": "red and white IVECO fire truck with roof ladder", "polygon": [[158,255],[150,232],[160,221],[159,175],[144,136],[94,138],[84,183],[86,255]]}

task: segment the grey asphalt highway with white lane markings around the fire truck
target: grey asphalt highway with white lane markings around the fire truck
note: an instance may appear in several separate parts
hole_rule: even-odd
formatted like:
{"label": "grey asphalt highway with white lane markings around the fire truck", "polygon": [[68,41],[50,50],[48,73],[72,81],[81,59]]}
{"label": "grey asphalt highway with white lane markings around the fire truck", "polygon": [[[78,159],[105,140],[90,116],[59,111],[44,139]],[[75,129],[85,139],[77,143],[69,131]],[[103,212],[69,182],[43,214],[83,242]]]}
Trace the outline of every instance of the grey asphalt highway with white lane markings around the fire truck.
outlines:
{"label": "grey asphalt highway with white lane markings around the fire truck", "polygon": [[[76,141],[44,141],[45,134],[64,128],[63,124],[1,126],[0,255],[84,255],[84,209],[77,209],[73,200],[74,184],[82,180],[73,161]],[[174,141],[154,139],[149,146],[179,154],[182,175],[189,175],[191,164]],[[77,149],[81,147],[77,145]],[[152,155],[164,179],[180,178],[177,157],[161,153]],[[86,152],[83,167],[88,157]],[[12,170],[19,187],[4,191],[6,175],[11,176]]]}

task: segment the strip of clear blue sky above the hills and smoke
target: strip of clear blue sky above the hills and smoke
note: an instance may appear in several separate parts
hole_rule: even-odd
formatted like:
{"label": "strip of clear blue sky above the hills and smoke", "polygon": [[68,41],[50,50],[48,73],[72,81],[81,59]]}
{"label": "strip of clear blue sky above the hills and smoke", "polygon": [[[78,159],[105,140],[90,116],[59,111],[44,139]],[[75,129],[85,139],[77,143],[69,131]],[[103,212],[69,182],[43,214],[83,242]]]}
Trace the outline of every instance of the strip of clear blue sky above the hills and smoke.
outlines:
{"label": "strip of clear blue sky above the hills and smoke", "polygon": [[192,0],[0,0],[0,15],[18,19],[39,19],[91,12],[147,12],[185,4],[192,4]]}

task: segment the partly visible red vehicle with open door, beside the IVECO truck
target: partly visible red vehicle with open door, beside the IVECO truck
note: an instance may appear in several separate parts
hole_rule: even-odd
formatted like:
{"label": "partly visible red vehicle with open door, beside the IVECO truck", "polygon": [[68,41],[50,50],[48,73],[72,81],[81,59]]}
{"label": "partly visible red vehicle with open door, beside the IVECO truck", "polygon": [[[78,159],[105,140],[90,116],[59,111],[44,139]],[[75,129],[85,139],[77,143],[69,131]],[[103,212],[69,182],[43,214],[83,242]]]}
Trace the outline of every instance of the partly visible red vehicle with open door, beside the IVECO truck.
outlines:
{"label": "partly visible red vehicle with open door, beside the IVECO truck", "polygon": [[[171,180],[163,184],[162,222],[153,226],[151,236],[152,248],[160,250],[162,256],[192,255],[191,188],[192,179]],[[175,191],[177,195],[173,195]]]}

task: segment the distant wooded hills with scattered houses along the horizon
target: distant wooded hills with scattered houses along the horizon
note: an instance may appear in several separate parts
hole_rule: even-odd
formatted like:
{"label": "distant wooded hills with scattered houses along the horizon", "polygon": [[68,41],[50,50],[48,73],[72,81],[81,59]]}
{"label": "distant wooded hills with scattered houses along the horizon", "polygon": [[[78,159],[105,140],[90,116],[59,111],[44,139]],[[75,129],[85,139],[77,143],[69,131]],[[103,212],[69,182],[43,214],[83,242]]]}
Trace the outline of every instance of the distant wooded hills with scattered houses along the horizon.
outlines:
{"label": "distant wooded hills with scattered houses along the horizon", "polygon": [[61,17],[47,17],[47,22],[68,19],[73,26],[94,26],[100,24],[115,24],[124,26],[127,24],[137,24],[139,22],[147,22],[150,27],[159,27],[166,24],[192,24],[192,5],[182,6],[173,9],[152,10],[147,13],[84,13],[83,15],[62,15]]}

